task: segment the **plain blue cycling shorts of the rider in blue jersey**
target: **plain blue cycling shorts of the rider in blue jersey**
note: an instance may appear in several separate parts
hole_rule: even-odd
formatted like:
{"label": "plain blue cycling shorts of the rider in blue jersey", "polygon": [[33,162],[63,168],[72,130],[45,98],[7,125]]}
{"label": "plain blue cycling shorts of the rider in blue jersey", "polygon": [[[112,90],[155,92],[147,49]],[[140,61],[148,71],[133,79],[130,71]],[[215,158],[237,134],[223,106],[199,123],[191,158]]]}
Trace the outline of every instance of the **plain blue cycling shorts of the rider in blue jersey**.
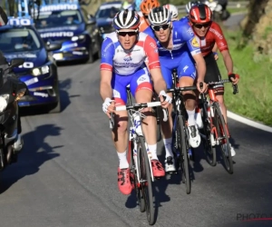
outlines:
{"label": "plain blue cycling shorts of the rider in blue jersey", "polygon": [[183,76],[189,76],[196,79],[196,67],[194,60],[188,52],[184,52],[174,59],[160,57],[160,68],[163,79],[166,82],[167,89],[172,88],[172,70],[177,69],[179,79]]}

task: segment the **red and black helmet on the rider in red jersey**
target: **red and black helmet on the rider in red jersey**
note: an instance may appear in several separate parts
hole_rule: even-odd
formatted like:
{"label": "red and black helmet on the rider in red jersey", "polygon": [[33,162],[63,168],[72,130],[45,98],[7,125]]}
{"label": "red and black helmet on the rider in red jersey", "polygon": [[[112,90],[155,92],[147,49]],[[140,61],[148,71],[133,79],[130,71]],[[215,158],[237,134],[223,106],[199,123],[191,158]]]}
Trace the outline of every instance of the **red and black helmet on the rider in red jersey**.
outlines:
{"label": "red and black helmet on the rider in red jersey", "polygon": [[205,24],[211,21],[211,10],[208,5],[193,5],[189,10],[189,21],[193,24]]}

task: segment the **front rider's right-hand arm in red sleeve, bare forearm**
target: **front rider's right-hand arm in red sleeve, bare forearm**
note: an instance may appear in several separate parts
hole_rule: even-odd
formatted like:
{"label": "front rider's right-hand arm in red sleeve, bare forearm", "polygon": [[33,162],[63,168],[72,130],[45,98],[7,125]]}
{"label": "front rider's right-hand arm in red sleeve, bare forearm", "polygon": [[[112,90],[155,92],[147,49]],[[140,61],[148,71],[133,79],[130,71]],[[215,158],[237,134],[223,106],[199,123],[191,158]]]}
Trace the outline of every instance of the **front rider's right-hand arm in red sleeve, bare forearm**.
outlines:
{"label": "front rider's right-hand arm in red sleeve, bare forearm", "polygon": [[154,89],[157,94],[160,94],[160,91],[166,91],[166,83],[160,70],[160,59],[157,44],[155,40],[148,35],[144,42],[143,48],[149,61],[148,67],[154,83]]}

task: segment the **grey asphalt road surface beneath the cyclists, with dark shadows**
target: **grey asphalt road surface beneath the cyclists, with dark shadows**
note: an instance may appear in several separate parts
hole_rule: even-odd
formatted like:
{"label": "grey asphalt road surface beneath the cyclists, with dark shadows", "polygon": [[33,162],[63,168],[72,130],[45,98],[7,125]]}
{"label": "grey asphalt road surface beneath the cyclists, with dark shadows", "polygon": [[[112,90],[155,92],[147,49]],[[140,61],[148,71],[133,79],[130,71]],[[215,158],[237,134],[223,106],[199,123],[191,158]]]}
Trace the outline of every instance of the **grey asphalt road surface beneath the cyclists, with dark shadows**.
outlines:
{"label": "grey asphalt road surface beneath the cyclists, with dark shadows", "polygon": [[[24,150],[1,173],[1,227],[148,226],[135,194],[118,191],[99,64],[59,67],[62,113],[23,117]],[[242,222],[247,215],[272,215],[271,134],[232,120],[229,129],[237,151],[234,174],[221,163],[209,166],[199,150],[190,163],[191,194],[176,174],[154,183],[155,226],[271,226]],[[163,160],[161,143],[159,154]]]}

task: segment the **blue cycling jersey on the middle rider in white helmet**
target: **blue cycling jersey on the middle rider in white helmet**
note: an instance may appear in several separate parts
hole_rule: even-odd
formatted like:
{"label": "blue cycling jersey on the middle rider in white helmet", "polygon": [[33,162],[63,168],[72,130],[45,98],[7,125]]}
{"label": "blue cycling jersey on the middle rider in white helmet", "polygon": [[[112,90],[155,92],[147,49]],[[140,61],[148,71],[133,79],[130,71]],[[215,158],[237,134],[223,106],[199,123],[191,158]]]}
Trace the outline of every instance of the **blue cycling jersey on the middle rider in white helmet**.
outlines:
{"label": "blue cycling jersey on the middle rider in white helmet", "polygon": [[151,35],[156,40],[161,58],[174,59],[180,57],[184,52],[189,52],[191,55],[201,53],[199,43],[187,19],[172,22],[172,50],[166,49],[160,44],[151,26],[144,33]]}

